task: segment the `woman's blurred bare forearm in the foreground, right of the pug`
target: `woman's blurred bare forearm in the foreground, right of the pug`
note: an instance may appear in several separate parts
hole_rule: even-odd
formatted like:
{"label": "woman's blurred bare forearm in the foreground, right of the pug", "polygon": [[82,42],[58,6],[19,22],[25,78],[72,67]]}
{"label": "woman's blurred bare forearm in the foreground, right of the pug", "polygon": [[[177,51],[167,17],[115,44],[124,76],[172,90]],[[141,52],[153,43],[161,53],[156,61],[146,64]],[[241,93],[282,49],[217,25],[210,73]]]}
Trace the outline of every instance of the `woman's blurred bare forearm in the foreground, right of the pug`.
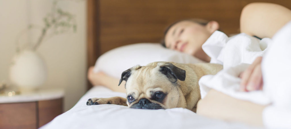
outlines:
{"label": "woman's blurred bare forearm in the foreground, right of the pug", "polygon": [[198,101],[197,114],[226,121],[263,126],[262,111],[265,106],[238,100],[216,90],[210,90]]}

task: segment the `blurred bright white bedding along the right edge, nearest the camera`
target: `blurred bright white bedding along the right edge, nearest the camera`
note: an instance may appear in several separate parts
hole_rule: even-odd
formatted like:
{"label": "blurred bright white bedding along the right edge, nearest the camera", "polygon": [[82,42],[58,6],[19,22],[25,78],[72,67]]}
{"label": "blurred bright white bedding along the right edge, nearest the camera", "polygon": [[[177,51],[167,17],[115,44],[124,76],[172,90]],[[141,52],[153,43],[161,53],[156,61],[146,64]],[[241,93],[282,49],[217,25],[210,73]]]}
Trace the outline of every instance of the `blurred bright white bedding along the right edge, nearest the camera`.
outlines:
{"label": "blurred bright white bedding along the right edge, nearest the camera", "polygon": [[272,38],[262,60],[263,92],[272,105],[263,111],[263,122],[271,128],[291,128],[291,21]]}

